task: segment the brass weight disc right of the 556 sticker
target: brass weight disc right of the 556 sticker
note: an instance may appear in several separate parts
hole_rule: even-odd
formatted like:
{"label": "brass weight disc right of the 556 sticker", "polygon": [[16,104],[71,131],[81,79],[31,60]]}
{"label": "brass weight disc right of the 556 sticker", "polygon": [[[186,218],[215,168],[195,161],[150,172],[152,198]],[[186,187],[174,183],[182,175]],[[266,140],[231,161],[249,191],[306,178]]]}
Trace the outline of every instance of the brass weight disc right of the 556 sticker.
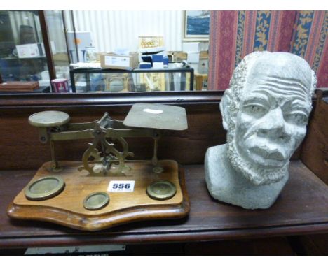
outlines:
{"label": "brass weight disc right of the 556 sticker", "polygon": [[152,182],[146,189],[147,194],[151,199],[165,200],[171,199],[177,193],[177,187],[172,182],[167,180],[158,180]]}

